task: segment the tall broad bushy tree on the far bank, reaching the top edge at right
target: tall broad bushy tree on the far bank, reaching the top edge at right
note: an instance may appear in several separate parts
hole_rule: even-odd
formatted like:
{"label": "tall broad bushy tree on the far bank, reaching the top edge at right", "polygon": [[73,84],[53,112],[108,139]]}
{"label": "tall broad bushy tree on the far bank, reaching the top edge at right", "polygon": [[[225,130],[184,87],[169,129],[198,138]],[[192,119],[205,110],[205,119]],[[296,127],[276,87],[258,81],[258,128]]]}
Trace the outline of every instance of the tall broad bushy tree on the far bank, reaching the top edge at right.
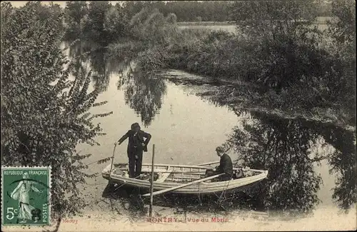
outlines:
{"label": "tall broad bushy tree on the far bank, reaching the top edge at right", "polygon": [[241,39],[257,48],[249,81],[277,94],[308,89],[299,99],[306,109],[331,107],[341,91],[336,79],[342,70],[339,61],[321,46],[322,31],[313,25],[316,3],[238,1],[232,7]]}

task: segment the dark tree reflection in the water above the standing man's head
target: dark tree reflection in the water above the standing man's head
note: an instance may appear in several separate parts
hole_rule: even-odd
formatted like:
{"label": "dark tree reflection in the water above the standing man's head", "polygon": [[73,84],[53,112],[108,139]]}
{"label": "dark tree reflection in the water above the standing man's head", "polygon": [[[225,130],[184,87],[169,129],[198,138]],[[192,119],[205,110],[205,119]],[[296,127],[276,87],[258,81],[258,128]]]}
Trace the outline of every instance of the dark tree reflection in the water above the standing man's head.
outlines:
{"label": "dark tree reflection in the water above the standing man's head", "polygon": [[100,93],[108,89],[113,74],[119,75],[118,89],[124,89],[126,104],[141,116],[144,126],[149,126],[159,113],[166,84],[155,74],[136,71],[129,59],[120,54],[110,54],[94,43],[74,44],[69,49],[69,57],[90,67],[94,88]]}

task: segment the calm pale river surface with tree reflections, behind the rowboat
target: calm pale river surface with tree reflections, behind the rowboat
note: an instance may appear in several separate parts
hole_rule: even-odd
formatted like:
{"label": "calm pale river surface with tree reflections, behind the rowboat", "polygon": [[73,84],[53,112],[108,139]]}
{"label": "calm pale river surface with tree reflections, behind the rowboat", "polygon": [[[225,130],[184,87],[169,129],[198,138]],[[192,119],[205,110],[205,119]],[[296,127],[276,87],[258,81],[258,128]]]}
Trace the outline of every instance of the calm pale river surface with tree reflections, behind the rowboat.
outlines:
{"label": "calm pale river surface with tree reflections, behind the rowboat", "polygon": [[[67,50],[70,57],[77,51]],[[97,102],[108,101],[91,113],[113,112],[96,118],[106,133],[96,139],[100,146],[80,144],[77,148],[82,154],[92,154],[88,163],[111,156],[114,142],[131,123],[138,122],[152,136],[144,163],[151,163],[152,144],[156,146],[156,163],[174,164],[217,161],[215,148],[224,144],[231,148],[232,159],[244,158],[246,166],[269,171],[268,179],[248,192],[257,196],[264,208],[355,207],[356,143],[352,132],[259,111],[233,111],[198,95],[219,86],[174,84],[165,77],[172,77],[173,72],[188,79],[193,75],[183,71],[146,74],[136,70],[133,61],[109,56],[104,49],[91,52],[82,61],[85,69],[93,71],[90,89],[101,90]],[[116,147],[116,162],[127,162],[126,144]],[[93,163],[88,172],[100,173],[108,164]],[[89,179],[85,196],[99,202],[106,183],[100,175]]]}

